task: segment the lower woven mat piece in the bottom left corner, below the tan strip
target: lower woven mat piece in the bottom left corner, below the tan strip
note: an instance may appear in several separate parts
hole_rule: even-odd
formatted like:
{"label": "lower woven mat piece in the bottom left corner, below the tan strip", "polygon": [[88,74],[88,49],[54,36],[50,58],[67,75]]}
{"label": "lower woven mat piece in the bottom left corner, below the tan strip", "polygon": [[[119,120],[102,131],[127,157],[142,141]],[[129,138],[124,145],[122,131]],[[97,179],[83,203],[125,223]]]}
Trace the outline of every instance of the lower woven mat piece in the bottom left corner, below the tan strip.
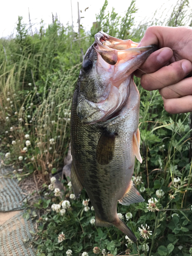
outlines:
{"label": "lower woven mat piece in the bottom left corner, below the tan strip", "polygon": [[34,256],[30,245],[32,239],[30,230],[34,232],[31,219],[23,218],[25,211],[13,216],[0,226],[1,256]]}

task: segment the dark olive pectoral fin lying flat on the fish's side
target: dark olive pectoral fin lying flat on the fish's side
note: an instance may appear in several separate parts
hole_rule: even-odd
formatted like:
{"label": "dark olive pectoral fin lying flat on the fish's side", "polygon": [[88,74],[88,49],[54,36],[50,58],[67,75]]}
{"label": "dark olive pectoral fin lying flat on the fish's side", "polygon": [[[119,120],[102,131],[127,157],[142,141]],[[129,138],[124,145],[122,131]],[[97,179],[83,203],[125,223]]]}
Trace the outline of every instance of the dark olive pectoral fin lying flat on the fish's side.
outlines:
{"label": "dark olive pectoral fin lying flat on the fish's side", "polygon": [[109,164],[113,159],[115,149],[115,136],[115,133],[110,133],[108,131],[104,131],[101,134],[96,149],[96,159],[99,164]]}

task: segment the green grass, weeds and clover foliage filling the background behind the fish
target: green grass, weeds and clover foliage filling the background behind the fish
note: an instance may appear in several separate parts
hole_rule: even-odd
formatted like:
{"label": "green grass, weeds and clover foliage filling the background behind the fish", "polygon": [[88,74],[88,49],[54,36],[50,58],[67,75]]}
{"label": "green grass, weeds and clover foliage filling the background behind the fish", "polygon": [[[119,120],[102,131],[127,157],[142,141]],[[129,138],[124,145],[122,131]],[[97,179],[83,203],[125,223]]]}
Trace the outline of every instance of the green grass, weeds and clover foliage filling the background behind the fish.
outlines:
{"label": "green grass, weeds and clover foliage filling the background behind the fish", "polygon": [[[133,0],[120,17],[114,9],[106,13],[105,1],[91,34],[103,30],[112,36],[139,41],[150,25],[191,23],[188,1],[181,0],[170,17],[164,20],[154,17],[135,27],[135,4]],[[71,249],[73,255],[86,251],[92,256],[94,247],[100,248],[100,256],[108,251],[114,256],[191,255],[191,117],[170,116],[163,109],[158,92],[143,90],[138,78],[135,82],[141,96],[139,128],[143,163],[135,163],[134,182],[145,202],[117,206],[138,242],[132,244],[113,226],[96,227],[94,210],[86,211],[82,205],[87,198],[85,191],[79,200],[73,200],[72,190],[65,181],[61,197],[48,188],[49,173],[55,174],[62,168],[68,151],[71,100],[82,61],[80,49],[85,53],[94,41],[86,35],[81,27],[80,37],[84,38],[77,40],[77,33],[56,19],[47,29],[41,21],[39,32],[30,36],[22,17],[18,17],[16,38],[0,39],[0,139],[2,152],[10,153],[4,162],[14,164],[13,176],[18,180],[33,172],[45,180],[40,198],[33,205],[34,211],[29,209],[24,216],[37,223],[37,230],[32,233],[37,255],[61,256]],[[155,206],[148,201],[152,198]],[[61,214],[66,199],[71,206]],[[60,208],[53,210],[53,204],[59,204]],[[91,208],[91,202],[88,206]],[[132,214],[130,219],[125,217],[127,212]],[[141,225],[152,234],[141,236]],[[65,240],[58,243],[62,232]]]}

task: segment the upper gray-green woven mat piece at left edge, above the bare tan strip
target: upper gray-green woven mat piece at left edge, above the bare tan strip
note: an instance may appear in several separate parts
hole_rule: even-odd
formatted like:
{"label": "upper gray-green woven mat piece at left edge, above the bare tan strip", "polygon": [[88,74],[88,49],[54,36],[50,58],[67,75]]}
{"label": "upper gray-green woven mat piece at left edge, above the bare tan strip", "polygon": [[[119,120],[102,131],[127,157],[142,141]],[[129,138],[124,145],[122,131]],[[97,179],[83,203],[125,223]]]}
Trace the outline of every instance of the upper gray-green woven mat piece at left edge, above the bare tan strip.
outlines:
{"label": "upper gray-green woven mat piece at left edge, above the bare tan strip", "polygon": [[23,209],[25,196],[18,186],[18,181],[8,176],[12,172],[10,167],[0,165],[0,211]]}

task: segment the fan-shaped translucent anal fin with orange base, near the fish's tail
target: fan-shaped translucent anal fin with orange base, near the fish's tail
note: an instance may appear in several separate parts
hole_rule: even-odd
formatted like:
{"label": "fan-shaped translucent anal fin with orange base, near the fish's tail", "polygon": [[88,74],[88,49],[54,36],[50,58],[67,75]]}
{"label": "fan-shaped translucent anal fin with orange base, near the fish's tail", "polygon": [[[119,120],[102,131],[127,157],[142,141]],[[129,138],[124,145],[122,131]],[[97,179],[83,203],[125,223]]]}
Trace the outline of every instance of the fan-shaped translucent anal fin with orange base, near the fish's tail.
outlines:
{"label": "fan-shaped translucent anal fin with orange base, near the fish's tail", "polygon": [[124,196],[119,200],[119,203],[123,205],[130,205],[144,201],[145,200],[139,194],[139,191],[135,188],[133,182],[131,181],[129,188],[127,189]]}

